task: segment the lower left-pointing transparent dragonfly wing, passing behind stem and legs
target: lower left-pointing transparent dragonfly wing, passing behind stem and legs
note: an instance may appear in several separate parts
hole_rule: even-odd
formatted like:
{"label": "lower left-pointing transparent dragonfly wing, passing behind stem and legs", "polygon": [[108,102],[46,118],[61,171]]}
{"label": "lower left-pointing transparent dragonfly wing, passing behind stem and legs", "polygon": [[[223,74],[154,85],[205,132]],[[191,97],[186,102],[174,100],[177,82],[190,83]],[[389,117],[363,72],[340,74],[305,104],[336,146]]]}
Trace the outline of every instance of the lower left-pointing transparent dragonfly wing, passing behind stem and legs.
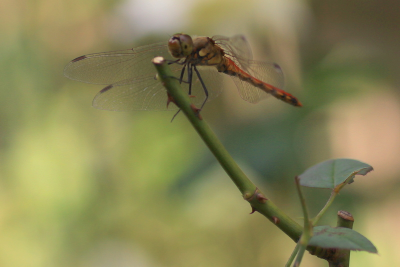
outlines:
{"label": "lower left-pointing transparent dragonfly wing, passing behind stem and legs", "polygon": [[[182,67],[178,64],[173,64],[171,67],[174,70],[173,76],[180,77]],[[214,99],[222,90],[222,75],[212,67],[197,67],[197,69],[208,90],[207,101]],[[170,103],[167,108],[166,90],[154,77],[154,75],[135,77],[134,81],[128,84],[106,86],[94,97],[93,107],[113,111],[176,110],[177,107],[173,103]],[[187,81],[187,71],[183,80]],[[188,84],[182,83],[182,88],[188,94]],[[195,73],[193,73],[191,95],[193,96],[190,98],[191,102],[196,107],[200,107],[205,100],[205,93]]]}

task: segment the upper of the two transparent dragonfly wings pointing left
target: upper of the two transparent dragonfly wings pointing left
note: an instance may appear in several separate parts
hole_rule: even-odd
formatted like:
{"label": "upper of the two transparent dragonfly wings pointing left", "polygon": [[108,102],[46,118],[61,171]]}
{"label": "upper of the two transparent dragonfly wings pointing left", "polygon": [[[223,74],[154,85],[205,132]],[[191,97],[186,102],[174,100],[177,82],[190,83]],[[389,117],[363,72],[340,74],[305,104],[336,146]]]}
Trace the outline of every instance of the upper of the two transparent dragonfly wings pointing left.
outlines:
{"label": "upper of the two transparent dragonfly wings pointing left", "polygon": [[166,43],[128,50],[90,54],[78,57],[64,68],[64,76],[91,84],[124,85],[134,82],[133,77],[155,74],[151,59],[162,56],[171,59]]}

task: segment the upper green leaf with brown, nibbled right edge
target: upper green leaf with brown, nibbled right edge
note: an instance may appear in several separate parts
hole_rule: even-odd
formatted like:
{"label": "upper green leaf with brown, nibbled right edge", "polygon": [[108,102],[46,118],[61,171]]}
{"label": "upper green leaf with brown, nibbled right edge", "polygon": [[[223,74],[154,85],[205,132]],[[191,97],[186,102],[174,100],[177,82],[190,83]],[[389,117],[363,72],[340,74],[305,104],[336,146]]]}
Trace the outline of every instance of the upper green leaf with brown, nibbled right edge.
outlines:
{"label": "upper green leaf with brown, nibbled right edge", "polygon": [[373,170],[368,164],[354,159],[330,159],[307,169],[301,175],[300,184],[316,188],[341,188],[352,183],[355,174],[365,175]]}

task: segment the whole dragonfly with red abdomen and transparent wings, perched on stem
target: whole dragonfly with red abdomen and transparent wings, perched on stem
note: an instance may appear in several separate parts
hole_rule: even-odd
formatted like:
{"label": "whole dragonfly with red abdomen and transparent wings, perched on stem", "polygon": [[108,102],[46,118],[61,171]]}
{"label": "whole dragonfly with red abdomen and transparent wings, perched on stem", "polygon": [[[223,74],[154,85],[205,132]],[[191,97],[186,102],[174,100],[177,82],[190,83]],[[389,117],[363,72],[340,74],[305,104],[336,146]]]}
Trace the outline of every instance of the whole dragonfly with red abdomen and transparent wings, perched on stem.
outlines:
{"label": "whole dragonfly with red abdomen and transparent wings, perched on stem", "polygon": [[228,75],[241,98],[250,103],[272,95],[301,107],[283,91],[283,73],[272,62],[252,60],[251,49],[242,35],[191,38],[175,34],[169,41],[137,48],[80,56],[70,61],[64,76],[90,84],[106,85],[93,99],[93,107],[112,111],[176,110],[156,79],[151,59],[161,56],[170,64],[192,104],[200,109],[217,97]]}

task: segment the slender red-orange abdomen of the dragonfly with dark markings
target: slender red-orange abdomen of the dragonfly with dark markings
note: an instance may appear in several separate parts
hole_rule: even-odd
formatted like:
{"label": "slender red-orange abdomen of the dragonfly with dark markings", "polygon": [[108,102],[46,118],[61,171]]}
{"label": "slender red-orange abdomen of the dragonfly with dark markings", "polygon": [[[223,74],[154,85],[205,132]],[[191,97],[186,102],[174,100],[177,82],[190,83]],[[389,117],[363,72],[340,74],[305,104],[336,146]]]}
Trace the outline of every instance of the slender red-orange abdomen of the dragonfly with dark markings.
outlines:
{"label": "slender red-orange abdomen of the dragonfly with dark markings", "polygon": [[285,91],[274,87],[270,84],[264,83],[248,73],[240,69],[231,59],[224,57],[223,64],[218,65],[218,71],[230,76],[235,76],[240,80],[250,83],[251,85],[261,89],[262,91],[271,94],[277,99],[280,99],[290,105],[301,107],[301,103],[294,96],[286,93]]}

